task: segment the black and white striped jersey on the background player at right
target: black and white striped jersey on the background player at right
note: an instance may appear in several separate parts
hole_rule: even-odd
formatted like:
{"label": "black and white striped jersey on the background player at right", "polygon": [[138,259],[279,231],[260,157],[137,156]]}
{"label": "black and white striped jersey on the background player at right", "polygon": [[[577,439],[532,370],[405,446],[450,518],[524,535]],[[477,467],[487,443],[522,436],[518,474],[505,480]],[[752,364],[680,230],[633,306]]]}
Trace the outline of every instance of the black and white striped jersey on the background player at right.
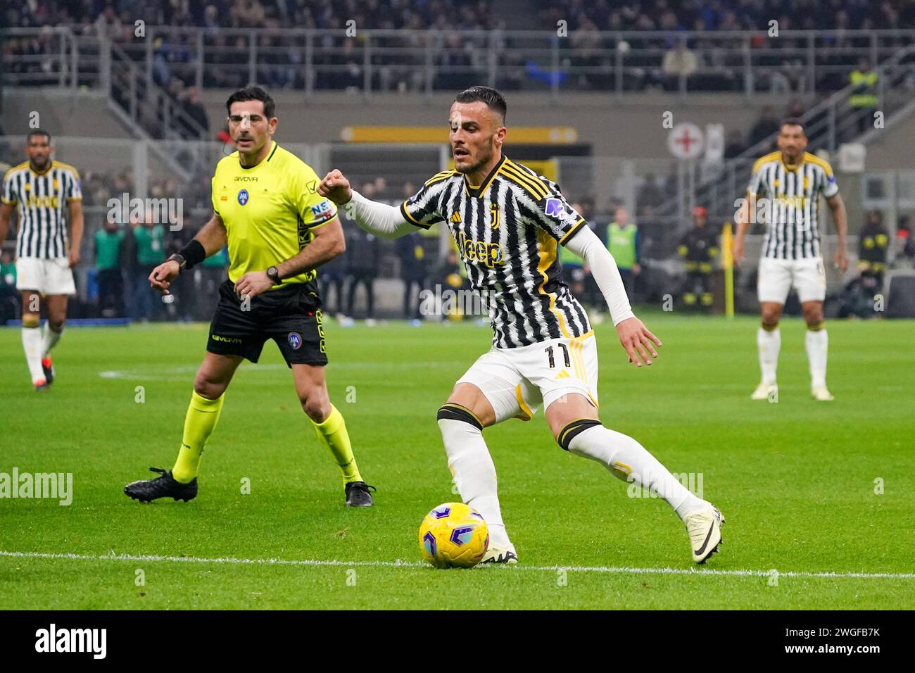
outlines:
{"label": "black and white striped jersey on the background player at right", "polygon": [[[747,188],[751,212],[766,224],[762,256],[806,259],[820,256],[820,197],[839,193],[833,168],[809,152],[787,166],[781,152],[759,157]],[[754,203],[755,201],[755,203]]]}

